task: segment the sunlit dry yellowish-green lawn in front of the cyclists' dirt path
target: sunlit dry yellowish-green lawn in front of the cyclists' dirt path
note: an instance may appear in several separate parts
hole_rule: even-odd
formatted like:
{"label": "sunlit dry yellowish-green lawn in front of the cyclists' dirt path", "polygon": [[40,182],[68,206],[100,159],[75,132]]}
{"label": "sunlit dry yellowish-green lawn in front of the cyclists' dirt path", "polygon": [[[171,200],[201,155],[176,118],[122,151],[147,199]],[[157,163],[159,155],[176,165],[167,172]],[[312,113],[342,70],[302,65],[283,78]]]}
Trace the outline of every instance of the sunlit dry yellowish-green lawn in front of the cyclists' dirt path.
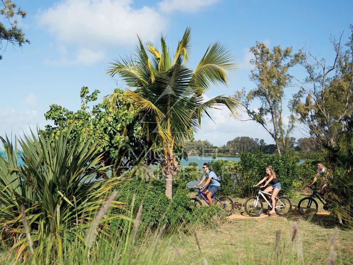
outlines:
{"label": "sunlit dry yellowish-green lawn in front of the cyclists' dirt path", "polygon": [[[172,236],[165,235],[158,244],[158,249],[163,251],[158,253],[155,261],[158,264],[274,264],[278,229],[280,241],[277,264],[325,264],[335,231],[334,223],[321,203],[318,214],[310,220],[298,214],[297,204],[305,196],[307,194],[299,193],[297,198],[291,200],[293,210],[287,217],[245,217],[223,222],[215,219],[214,226],[197,226],[195,232],[201,251],[193,234],[178,232]],[[245,202],[244,198],[232,199],[241,204]],[[244,207],[236,209],[234,213],[246,216],[243,212]],[[299,229],[292,242],[292,229],[297,222]],[[147,245],[148,242],[144,242],[138,249]],[[335,264],[352,264],[353,231],[338,230],[334,250]],[[298,256],[302,259],[298,259]]]}

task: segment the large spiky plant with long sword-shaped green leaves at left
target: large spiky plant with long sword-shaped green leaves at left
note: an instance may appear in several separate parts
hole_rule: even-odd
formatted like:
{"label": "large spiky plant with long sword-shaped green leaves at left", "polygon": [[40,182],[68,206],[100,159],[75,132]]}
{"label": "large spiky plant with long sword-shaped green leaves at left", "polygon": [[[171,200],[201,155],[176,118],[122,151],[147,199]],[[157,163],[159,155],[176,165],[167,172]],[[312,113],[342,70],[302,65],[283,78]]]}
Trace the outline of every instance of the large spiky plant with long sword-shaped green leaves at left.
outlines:
{"label": "large spiky plant with long sword-shaped green leaves at left", "polygon": [[[70,129],[58,138],[47,138],[41,133],[37,136],[31,131],[31,135],[18,140],[20,166],[11,159],[16,153],[12,143],[1,139],[8,155],[7,159],[0,158],[0,204],[4,206],[0,225],[12,228],[16,238],[12,249],[17,249],[17,257],[27,244],[21,205],[25,208],[32,241],[39,246],[47,237],[55,241],[64,228],[87,223],[104,201],[103,195],[121,181],[116,177],[97,180],[97,174],[108,168],[103,165],[100,146],[89,147],[88,142],[72,141],[68,135]],[[121,202],[113,204],[122,207]]]}

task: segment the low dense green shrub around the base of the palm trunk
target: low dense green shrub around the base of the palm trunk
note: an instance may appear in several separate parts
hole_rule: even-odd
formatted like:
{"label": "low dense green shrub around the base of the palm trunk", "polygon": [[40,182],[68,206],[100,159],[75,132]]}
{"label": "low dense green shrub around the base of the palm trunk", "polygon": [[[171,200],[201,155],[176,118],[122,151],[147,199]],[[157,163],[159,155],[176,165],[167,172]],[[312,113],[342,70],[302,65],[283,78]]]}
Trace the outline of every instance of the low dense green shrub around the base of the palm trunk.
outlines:
{"label": "low dense green shrub around the base of the palm trunk", "polygon": [[[213,207],[203,210],[193,207],[188,190],[185,189],[185,182],[181,179],[173,183],[173,200],[165,195],[165,181],[160,179],[145,182],[140,178],[132,178],[120,185],[117,191],[116,200],[124,201],[127,205],[131,204],[135,196],[134,212],[137,212],[141,204],[143,205],[141,224],[145,227],[156,228],[160,224],[167,223],[176,228],[181,223],[195,223],[198,220],[207,223],[205,220],[207,217],[220,213]],[[122,222],[124,220],[113,220],[110,224],[112,231],[119,229]]]}

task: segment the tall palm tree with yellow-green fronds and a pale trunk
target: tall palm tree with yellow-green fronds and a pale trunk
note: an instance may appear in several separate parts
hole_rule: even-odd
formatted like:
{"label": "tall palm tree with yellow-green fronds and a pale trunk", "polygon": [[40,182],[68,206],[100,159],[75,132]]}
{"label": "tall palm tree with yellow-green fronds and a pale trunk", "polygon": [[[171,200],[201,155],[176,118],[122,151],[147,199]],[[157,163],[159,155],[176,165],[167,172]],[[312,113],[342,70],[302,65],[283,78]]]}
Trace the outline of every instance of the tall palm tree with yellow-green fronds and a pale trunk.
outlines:
{"label": "tall palm tree with yellow-green fronds and a pale trunk", "polygon": [[[135,90],[126,90],[135,106],[143,113],[142,121],[150,138],[162,144],[162,172],[166,176],[166,195],[172,198],[172,178],[180,166],[175,159],[175,147],[190,139],[199,128],[208,110],[225,105],[235,115],[240,103],[220,95],[205,100],[203,93],[211,84],[227,85],[227,72],[235,69],[231,52],[220,42],[211,44],[195,70],[186,67],[190,58],[191,29],[185,30],[174,57],[161,36],[161,51],[152,43],[139,45],[136,55],[110,63],[110,76],[119,74]],[[149,57],[148,53],[151,57]],[[114,103],[115,94],[108,95]],[[211,117],[210,117],[211,118]],[[153,137],[152,137],[153,136]]]}

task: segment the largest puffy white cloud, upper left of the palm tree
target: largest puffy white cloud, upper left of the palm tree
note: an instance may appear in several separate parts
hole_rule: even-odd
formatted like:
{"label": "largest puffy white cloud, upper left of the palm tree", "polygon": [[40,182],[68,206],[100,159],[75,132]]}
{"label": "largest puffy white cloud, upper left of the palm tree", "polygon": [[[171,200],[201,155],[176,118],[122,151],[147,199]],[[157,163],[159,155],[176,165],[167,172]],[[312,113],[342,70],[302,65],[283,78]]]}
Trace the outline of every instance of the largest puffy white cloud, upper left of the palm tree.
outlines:
{"label": "largest puffy white cloud, upper left of the palm tree", "polygon": [[81,47],[129,45],[155,39],[166,20],[155,8],[132,7],[131,0],[64,0],[40,12],[38,22],[60,41]]}

